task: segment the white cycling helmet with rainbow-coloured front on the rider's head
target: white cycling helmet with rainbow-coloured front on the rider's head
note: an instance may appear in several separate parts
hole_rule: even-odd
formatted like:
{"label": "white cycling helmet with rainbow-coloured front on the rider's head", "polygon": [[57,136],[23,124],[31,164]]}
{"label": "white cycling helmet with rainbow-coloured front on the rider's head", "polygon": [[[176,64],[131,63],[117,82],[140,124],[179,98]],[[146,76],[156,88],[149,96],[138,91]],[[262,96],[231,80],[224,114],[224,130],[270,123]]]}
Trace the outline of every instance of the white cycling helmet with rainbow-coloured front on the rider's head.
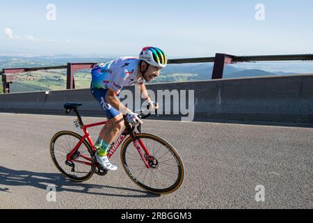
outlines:
{"label": "white cycling helmet with rainbow-coloured front on the rider's head", "polygon": [[168,56],[157,47],[144,47],[139,59],[159,68],[165,68],[168,63]]}

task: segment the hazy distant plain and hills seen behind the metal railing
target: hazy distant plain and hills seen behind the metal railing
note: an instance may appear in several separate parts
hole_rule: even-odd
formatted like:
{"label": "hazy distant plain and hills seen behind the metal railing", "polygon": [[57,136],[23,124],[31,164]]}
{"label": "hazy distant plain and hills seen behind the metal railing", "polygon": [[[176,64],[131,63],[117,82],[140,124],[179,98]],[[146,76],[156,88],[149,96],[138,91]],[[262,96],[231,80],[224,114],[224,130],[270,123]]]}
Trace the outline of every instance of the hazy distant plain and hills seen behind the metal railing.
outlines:
{"label": "hazy distant plain and hills seen behind the metal railing", "polygon": [[[56,56],[0,56],[0,70],[2,68],[29,68],[29,67],[45,67],[45,66],[61,66],[67,63],[99,63],[111,61],[112,58],[82,58],[72,57],[72,55],[56,55]],[[241,64],[239,64],[241,65]],[[264,64],[262,64],[264,65]],[[223,78],[239,78],[239,77],[262,77],[274,75],[294,75],[296,72],[269,72],[266,68],[275,68],[277,65],[272,63],[265,64],[263,68],[252,69],[251,64],[248,67],[227,65],[224,68]],[[303,66],[303,63],[301,63]],[[153,83],[166,82],[193,82],[197,80],[211,79],[213,72],[213,63],[184,63],[169,64],[161,70],[161,75]],[[269,70],[271,70],[269,69]],[[282,69],[284,71],[284,69]],[[11,84],[11,92],[27,92],[27,91],[50,91],[65,89],[66,86],[66,69],[62,70],[42,70],[31,73],[33,80],[28,80],[26,74],[19,74],[19,81]],[[77,89],[88,88],[90,86],[90,70],[80,70],[75,72],[75,85]],[[0,91],[1,86],[0,86]]]}

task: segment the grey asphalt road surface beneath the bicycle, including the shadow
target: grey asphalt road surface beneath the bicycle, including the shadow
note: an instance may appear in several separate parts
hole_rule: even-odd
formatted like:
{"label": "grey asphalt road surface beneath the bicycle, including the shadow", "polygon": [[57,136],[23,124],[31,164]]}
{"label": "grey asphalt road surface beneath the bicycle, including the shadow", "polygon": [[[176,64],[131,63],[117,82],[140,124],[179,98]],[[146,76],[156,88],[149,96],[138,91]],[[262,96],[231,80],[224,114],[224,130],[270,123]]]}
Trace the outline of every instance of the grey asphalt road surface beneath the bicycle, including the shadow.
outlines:
{"label": "grey asphalt road surface beneath the bicycle, including the shadow", "polygon": [[[127,177],[119,151],[118,171],[104,177],[71,183],[59,174],[49,142],[59,130],[79,132],[74,119],[0,114],[0,208],[313,208],[313,128],[145,121],[143,132],[175,146],[186,169],[182,187],[158,197]],[[90,129],[93,139],[99,130]],[[255,199],[257,185],[264,201]]]}

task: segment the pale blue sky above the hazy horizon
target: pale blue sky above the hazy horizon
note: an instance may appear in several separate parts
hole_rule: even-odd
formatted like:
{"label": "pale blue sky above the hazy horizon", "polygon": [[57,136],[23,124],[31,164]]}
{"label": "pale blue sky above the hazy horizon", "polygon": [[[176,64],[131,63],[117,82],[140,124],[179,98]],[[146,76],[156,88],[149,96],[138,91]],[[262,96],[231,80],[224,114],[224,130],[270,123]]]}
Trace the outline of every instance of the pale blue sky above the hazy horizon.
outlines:
{"label": "pale blue sky above the hazy horizon", "polygon": [[[46,19],[48,3],[56,21]],[[170,58],[313,53],[312,0],[12,0],[0,10],[0,53],[134,56],[147,45]]]}

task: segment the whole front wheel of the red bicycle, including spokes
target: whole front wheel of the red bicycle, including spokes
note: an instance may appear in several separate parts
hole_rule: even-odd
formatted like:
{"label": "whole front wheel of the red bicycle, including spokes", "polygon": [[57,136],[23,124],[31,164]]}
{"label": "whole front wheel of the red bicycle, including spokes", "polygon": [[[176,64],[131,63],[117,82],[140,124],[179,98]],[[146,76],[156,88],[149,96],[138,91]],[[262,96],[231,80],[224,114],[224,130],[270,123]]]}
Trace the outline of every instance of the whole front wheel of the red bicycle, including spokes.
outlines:
{"label": "whole front wheel of the red bicycle, including spokes", "polygon": [[[122,166],[131,180],[139,187],[154,194],[175,192],[184,180],[184,164],[177,151],[160,137],[152,134],[136,134],[150,157],[145,154],[150,165],[145,166],[131,137],[125,141],[121,149]],[[141,148],[141,151],[144,150]]]}

